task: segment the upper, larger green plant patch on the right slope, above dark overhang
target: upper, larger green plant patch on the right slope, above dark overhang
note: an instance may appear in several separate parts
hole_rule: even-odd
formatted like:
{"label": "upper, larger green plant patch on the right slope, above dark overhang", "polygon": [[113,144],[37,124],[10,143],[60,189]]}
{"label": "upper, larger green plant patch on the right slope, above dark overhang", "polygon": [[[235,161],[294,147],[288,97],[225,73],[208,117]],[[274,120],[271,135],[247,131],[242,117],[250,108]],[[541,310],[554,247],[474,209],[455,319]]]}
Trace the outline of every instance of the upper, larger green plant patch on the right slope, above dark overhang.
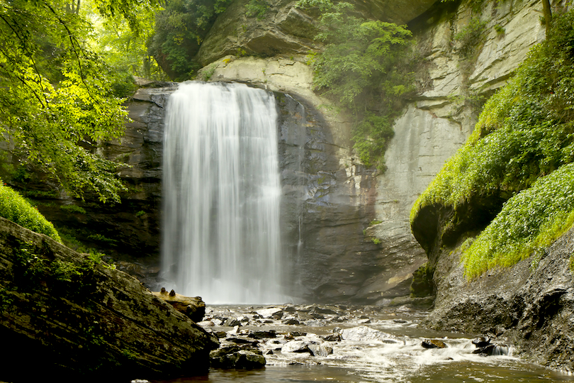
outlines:
{"label": "upper, larger green plant patch on the right slope, above dark overhang", "polygon": [[411,212],[456,210],[472,196],[510,198],[574,160],[574,13],[534,47],[508,84],[485,104],[466,144],[446,162]]}

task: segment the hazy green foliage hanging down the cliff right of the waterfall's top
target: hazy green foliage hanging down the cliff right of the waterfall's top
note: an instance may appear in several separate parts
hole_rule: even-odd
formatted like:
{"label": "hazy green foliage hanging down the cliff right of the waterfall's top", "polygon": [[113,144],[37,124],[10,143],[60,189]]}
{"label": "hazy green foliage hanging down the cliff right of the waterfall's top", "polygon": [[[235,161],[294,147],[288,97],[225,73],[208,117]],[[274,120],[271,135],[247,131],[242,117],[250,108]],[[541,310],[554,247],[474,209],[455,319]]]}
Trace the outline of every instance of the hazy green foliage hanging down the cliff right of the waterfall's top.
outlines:
{"label": "hazy green foliage hanging down the cliff right of the waterfall's top", "polygon": [[316,39],[325,48],[310,56],[314,88],[354,116],[354,148],[361,161],[384,169],[393,118],[415,89],[408,70],[410,30],[352,16],[354,9],[346,2],[301,0],[298,6],[322,11]]}

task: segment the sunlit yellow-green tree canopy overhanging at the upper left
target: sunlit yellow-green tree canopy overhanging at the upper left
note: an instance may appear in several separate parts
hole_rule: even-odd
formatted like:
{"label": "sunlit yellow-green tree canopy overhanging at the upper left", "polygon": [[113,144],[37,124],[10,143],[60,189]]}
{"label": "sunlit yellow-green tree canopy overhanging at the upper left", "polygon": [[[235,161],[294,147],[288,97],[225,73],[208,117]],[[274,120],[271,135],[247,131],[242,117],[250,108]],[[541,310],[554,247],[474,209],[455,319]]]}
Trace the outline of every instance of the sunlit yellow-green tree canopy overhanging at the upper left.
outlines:
{"label": "sunlit yellow-green tree canopy overhanging at the upper left", "polygon": [[[139,35],[157,0],[94,0],[104,20],[121,19]],[[80,2],[0,0],[0,133],[21,162],[74,196],[118,200],[118,164],[96,154],[123,133],[127,111],[114,93],[116,72],[90,39]]]}

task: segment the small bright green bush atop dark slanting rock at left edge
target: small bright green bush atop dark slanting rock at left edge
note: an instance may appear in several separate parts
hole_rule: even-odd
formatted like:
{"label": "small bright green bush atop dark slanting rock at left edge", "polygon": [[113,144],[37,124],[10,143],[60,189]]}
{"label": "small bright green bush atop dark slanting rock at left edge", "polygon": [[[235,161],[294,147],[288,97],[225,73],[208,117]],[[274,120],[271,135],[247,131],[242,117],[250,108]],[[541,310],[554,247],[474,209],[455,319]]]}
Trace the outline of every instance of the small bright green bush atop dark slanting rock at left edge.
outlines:
{"label": "small bright green bush atop dark slanting rock at left edge", "polygon": [[62,242],[52,223],[16,191],[0,182],[0,216]]}

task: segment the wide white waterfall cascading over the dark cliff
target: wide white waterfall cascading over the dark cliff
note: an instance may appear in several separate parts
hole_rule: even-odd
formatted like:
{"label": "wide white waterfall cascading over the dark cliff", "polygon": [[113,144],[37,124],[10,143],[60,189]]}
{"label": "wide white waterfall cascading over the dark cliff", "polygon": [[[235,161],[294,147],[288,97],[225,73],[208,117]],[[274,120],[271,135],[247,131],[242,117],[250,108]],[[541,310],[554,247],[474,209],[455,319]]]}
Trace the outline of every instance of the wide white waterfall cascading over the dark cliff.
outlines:
{"label": "wide white waterfall cascading over the dark cliff", "polygon": [[283,301],[276,124],[273,94],[244,84],[189,82],[171,95],[162,277],[179,294]]}

